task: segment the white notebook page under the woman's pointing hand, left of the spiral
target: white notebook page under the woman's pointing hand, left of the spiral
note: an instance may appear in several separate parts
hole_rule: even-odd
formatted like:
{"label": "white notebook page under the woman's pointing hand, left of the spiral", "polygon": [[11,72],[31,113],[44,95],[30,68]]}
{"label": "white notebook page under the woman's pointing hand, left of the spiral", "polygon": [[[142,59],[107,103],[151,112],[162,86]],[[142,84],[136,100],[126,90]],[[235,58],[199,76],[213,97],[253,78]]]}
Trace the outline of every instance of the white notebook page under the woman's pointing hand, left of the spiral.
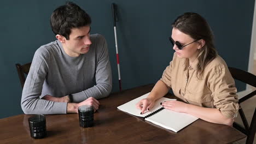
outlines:
{"label": "white notebook page under the woman's pointing hand, left of the spiral", "polygon": [[161,102],[164,102],[167,100],[176,100],[176,99],[168,99],[168,98],[162,97],[159,100],[155,101],[155,105],[149,110],[149,112],[146,112],[141,115],[140,114],[141,110],[137,109],[136,104],[139,102],[139,100],[147,98],[149,93],[146,93],[146,94],[142,95],[141,97],[138,97],[136,99],[133,99],[133,100],[123,104],[123,105],[120,105],[117,108],[121,111],[130,113],[131,115],[135,115],[138,117],[145,117],[145,116],[149,115],[150,113],[154,112],[155,110],[160,109],[162,107],[162,105],[160,105]]}

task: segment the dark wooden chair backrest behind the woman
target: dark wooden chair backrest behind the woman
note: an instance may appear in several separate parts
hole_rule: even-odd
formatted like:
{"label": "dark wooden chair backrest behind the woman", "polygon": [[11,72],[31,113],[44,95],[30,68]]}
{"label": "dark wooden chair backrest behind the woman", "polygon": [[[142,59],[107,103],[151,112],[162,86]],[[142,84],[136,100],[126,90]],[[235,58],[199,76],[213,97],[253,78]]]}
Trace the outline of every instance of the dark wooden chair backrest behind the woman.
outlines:
{"label": "dark wooden chair backrest behind the woman", "polygon": [[[256,87],[256,76],[248,73],[247,71],[243,71],[241,69],[236,69],[236,68],[231,68],[229,67],[229,71],[234,77],[234,79],[239,80],[241,82],[247,83],[248,85],[251,85],[253,87]],[[245,97],[241,98],[238,100],[238,104],[241,104],[243,101],[252,98],[254,95],[256,95],[256,90],[245,95]],[[256,104],[255,104],[256,105]],[[252,117],[252,122],[249,125],[248,121],[245,117],[245,113],[243,112],[243,109],[239,109],[239,114],[242,118],[243,125],[245,127],[242,127],[240,124],[234,122],[233,127],[240,130],[242,133],[247,135],[246,143],[253,143],[255,132],[256,132],[256,107],[254,109],[253,117]]]}

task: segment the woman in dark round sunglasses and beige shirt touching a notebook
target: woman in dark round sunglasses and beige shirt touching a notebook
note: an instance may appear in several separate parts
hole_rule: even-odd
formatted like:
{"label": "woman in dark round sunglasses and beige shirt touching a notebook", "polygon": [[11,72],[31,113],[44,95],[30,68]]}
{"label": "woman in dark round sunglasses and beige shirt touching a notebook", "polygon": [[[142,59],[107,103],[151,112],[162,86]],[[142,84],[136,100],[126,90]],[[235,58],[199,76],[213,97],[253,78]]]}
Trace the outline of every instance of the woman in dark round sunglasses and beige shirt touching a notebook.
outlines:
{"label": "woman in dark round sunglasses and beige shirt touching a notebook", "polygon": [[165,109],[189,113],[207,122],[232,125],[239,108],[235,81],[217,55],[206,20],[185,13],[172,23],[173,59],[146,99],[137,103],[144,113],[172,88],[182,101],[163,101]]}

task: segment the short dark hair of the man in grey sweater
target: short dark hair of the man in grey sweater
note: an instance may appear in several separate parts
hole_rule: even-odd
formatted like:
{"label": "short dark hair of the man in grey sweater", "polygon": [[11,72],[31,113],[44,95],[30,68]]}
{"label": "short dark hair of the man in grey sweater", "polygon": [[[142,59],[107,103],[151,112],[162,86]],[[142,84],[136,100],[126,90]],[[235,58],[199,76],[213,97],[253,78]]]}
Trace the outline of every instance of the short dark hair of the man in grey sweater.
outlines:
{"label": "short dark hair of the man in grey sweater", "polygon": [[77,4],[66,2],[51,14],[51,29],[69,40],[72,28],[80,28],[91,24],[91,17]]}

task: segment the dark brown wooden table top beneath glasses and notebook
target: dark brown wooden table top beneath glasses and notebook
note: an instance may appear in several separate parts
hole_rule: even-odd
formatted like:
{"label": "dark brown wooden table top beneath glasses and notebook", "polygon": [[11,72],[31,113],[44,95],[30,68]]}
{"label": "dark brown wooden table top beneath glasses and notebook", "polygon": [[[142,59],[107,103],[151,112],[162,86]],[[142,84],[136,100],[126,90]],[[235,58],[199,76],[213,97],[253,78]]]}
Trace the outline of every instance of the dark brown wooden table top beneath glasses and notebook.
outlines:
{"label": "dark brown wooden table top beneath glasses and notebook", "polygon": [[[141,118],[117,110],[117,106],[148,93],[153,85],[112,93],[100,99],[95,126],[79,127],[78,114],[46,115],[47,136],[30,137],[28,117],[0,119],[0,143],[230,143],[246,137],[235,128],[198,119],[178,133],[156,127]],[[168,95],[169,98],[174,98]]]}

